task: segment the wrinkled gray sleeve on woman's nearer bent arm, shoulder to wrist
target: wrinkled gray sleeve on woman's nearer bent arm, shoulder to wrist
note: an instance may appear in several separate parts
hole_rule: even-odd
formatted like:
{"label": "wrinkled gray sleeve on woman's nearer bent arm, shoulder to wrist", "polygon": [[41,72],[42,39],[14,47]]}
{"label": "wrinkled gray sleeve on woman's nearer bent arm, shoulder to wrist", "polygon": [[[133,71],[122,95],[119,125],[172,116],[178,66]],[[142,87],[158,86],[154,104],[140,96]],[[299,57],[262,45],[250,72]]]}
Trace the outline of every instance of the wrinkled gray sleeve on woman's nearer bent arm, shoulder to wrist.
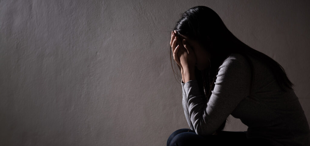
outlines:
{"label": "wrinkled gray sleeve on woman's nearer bent arm, shoulder to wrist", "polygon": [[[250,66],[240,54],[228,57],[219,67],[215,87],[209,101],[201,95],[197,80],[184,84],[189,119],[198,135],[214,133],[237,107],[241,100],[249,95]],[[189,122],[188,122],[189,123]]]}

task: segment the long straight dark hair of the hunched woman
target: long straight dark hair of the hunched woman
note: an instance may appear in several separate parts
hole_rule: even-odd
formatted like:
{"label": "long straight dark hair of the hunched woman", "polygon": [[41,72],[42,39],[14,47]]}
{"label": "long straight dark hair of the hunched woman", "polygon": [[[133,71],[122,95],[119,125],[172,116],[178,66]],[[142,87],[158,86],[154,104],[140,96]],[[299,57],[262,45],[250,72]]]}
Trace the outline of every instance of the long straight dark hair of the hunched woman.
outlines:
{"label": "long straight dark hair of the hunched woman", "polygon": [[[193,40],[197,40],[206,49],[213,48],[207,50],[211,54],[211,66],[203,71],[199,71],[197,67],[195,67],[196,80],[201,93],[205,94],[207,101],[212,94],[211,91],[214,89],[219,66],[232,53],[243,55],[249,62],[252,74],[249,95],[251,95],[254,69],[248,56],[257,58],[265,64],[272,71],[277,83],[283,91],[293,89],[292,87],[294,84],[290,82],[283,67],[278,62],[240,41],[226,28],[219,15],[209,7],[195,6],[188,9],[182,13],[182,17],[176,22],[174,30],[176,30],[178,35],[182,34]],[[170,62],[172,67],[171,52],[170,46]],[[178,68],[181,70],[179,66]],[[174,70],[173,72],[175,74]],[[226,121],[216,130],[216,133],[222,131],[225,124]]]}

